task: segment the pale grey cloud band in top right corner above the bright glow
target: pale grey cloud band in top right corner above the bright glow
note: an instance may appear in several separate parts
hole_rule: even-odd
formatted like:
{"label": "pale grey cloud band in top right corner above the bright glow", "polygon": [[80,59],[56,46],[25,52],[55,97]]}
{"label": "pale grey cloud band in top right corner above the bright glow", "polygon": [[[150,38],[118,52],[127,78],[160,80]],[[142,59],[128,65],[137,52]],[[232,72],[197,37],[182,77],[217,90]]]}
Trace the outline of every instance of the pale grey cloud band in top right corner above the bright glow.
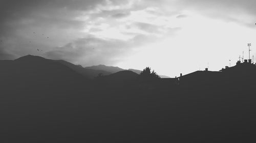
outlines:
{"label": "pale grey cloud band in top right corner above the bright glow", "polygon": [[192,10],[207,17],[255,27],[254,0],[181,0],[176,4],[180,5],[182,10]]}

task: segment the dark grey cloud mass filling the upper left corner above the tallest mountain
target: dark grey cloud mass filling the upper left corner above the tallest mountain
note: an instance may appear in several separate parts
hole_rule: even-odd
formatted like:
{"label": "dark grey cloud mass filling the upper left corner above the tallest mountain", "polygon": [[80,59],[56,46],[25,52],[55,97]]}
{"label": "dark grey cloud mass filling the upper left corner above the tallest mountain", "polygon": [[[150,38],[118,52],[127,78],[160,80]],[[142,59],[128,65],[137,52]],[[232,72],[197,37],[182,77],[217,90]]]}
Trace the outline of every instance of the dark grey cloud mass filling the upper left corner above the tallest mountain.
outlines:
{"label": "dark grey cloud mass filling the upper left corner above the tallest mountain", "polygon": [[1,58],[37,54],[34,48],[47,51],[51,46],[79,37],[74,33],[79,34],[84,21],[75,19],[76,16],[104,3],[103,0],[1,1],[0,38],[5,39],[5,45],[1,46]]}

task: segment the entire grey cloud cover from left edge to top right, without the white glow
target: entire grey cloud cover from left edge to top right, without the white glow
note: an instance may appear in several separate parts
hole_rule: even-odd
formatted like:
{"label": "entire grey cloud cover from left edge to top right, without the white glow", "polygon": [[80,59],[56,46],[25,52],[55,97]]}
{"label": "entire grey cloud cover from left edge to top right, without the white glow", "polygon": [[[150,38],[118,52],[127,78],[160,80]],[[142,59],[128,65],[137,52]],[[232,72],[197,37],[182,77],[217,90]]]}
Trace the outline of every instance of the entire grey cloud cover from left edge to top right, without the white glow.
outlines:
{"label": "entire grey cloud cover from left edge to top right, without the white glow", "polygon": [[112,65],[142,45],[173,36],[182,28],[176,27],[186,26],[183,21],[191,22],[190,12],[254,27],[255,5],[250,0],[4,0],[0,56],[36,54],[87,66]]}

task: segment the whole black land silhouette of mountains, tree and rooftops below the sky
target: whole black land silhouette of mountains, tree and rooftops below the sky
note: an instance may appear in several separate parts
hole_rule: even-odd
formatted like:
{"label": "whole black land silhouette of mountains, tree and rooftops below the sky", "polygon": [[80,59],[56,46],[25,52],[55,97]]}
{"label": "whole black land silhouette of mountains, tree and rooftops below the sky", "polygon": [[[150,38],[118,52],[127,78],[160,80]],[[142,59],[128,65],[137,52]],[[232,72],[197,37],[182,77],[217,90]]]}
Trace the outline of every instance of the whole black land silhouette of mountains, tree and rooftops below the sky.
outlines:
{"label": "whole black land silhouette of mountains, tree and rooftops below the sky", "polygon": [[0,67],[0,142],[255,141],[256,65],[247,60],[164,79],[150,67],[102,75],[33,55]]}

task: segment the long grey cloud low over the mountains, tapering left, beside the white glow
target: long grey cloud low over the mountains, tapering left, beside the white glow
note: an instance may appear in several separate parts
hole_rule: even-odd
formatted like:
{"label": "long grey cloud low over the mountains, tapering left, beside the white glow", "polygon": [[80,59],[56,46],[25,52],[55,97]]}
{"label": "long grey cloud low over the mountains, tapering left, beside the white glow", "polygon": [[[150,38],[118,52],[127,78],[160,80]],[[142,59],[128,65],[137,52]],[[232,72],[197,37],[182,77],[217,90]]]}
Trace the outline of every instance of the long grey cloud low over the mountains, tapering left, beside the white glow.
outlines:
{"label": "long grey cloud low over the mountains, tapering left, beside the white glow", "polygon": [[129,41],[118,39],[103,39],[89,35],[77,39],[62,47],[57,47],[45,54],[50,59],[63,59],[69,62],[79,62],[84,66],[108,64],[112,65],[130,54],[134,47],[153,37],[137,35]]}

